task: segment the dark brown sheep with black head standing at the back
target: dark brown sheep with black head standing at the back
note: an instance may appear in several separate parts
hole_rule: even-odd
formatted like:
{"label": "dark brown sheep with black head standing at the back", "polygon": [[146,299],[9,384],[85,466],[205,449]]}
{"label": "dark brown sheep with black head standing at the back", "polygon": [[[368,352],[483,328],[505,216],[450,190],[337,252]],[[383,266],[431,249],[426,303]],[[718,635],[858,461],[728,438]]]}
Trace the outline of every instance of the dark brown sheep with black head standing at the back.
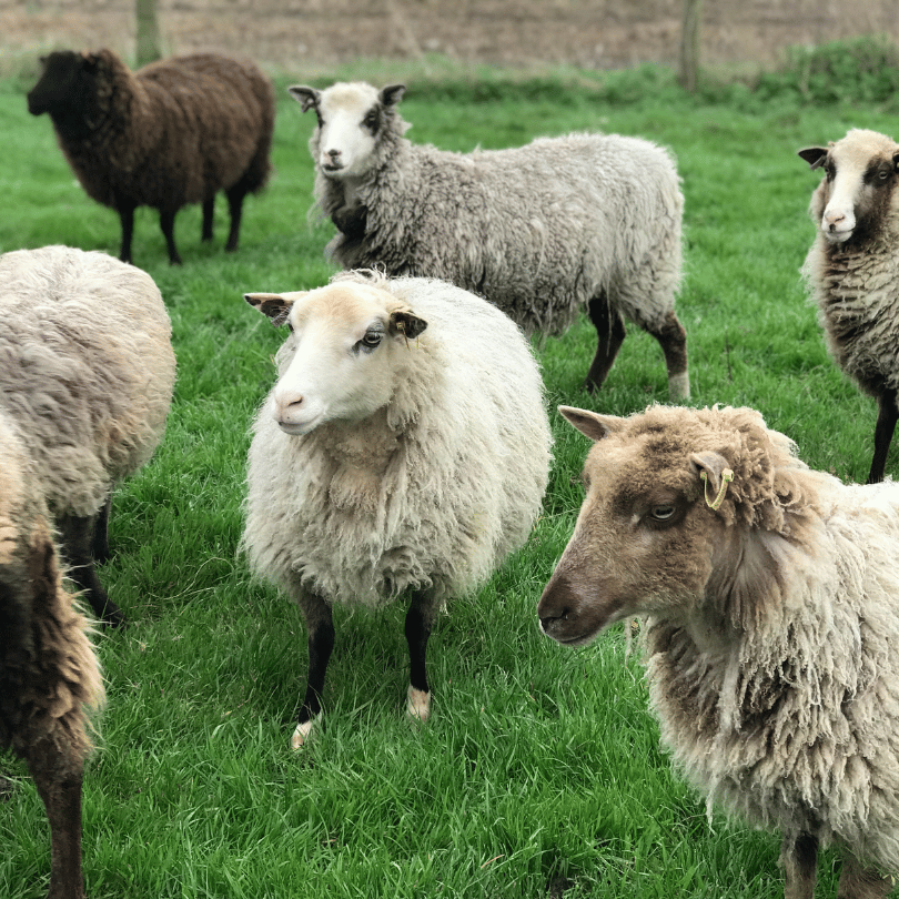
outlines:
{"label": "dark brown sheep with black head standing at the back", "polygon": [[274,90],[256,65],[196,53],[131,72],[112,50],[58,51],[43,65],[28,109],[50,113],[81,186],[119,213],[123,262],[138,206],[159,210],[169,261],[180,263],[175,213],[202,203],[211,240],[220,190],[231,213],[225,250],[238,249],[243,200],[265,184],[274,129]]}

